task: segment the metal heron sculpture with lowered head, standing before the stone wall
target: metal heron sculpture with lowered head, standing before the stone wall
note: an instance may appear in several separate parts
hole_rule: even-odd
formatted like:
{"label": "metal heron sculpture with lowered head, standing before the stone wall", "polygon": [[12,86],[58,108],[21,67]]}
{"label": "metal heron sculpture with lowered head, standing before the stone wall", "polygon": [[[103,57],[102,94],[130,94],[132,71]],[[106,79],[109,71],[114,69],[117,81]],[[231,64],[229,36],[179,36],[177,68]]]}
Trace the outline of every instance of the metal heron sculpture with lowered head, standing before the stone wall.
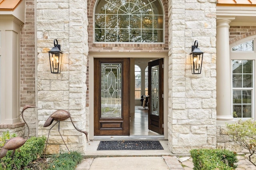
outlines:
{"label": "metal heron sculpture with lowered head, standing before the stone wall", "polygon": [[[75,127],[76,130],[78,130],[78,131],[80,131],[80,132],[82,132],[82,133],[84,133],[84,134],[86,135],[86,140],[87,140],[87,142],[88,142],[88,137],[87,137],[88,133],[87,133],[87,131],[81,131],[81,130],[77,129],[77,127],[74,125],[74,123],[73,123],[73,121],[72,121],[72,118],[71,118],[71,116],[70,116],[70,113],[69,113],[68,111],[66,111],[66,110],[57,110],[57,111],[55,111],[54,113],[52,113],[52,115],[50,115],[50,117],[49,117],[49,118],[46,120],[46,122],[44,123],[44,127],[48,127],[48,126],[50,126],[50,125],[52,124],[52,122],[53,122],[54,120],[57,121],[57,122],[50,128],[50,130],[49,130],[48,137],[47,137],[47,141],[46,141],[46,146],[45,146],[45,150],[44,150],[44,154],[46,153],[46,147],[47,147],[47,143],[48,143],[49,134],[50,134],[51,129],[52,129],[57,123],[59,123],[58,131],[59,131],[59,133],[60,133],[60,121],[64,121],[64,120],[66,120],[66,119],[68,119],[68,118],[70,118],[70,120],[71,120],[71,122],[72,122],[72,124],[73,124],[73,126]],[[64,141],[64,139],[63,139],[63,137],[62,137],[61,134],[60,134],[60,136],[61,136],[61,138],[62,138],[62,141],[63,141],[64,144],[66,145],[66,143],[65,143],[65,141]],[[66,147],[67,147],[67,145],[66,145]],[[68,147],[67,147],[67,149],[68,149]],[[69,149],[68,149],[68,151],[69,151]]]}

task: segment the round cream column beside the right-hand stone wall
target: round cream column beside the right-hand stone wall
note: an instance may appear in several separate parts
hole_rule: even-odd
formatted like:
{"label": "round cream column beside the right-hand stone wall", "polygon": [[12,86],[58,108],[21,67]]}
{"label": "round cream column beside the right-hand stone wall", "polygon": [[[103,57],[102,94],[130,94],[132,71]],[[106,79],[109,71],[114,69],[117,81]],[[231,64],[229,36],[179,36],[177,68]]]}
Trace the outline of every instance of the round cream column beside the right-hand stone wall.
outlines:
{"label": "round cream column beside the right-hand stone wall", "polygon": [[216,111],[217,120],[231,121],[231,68],[229,48],[229,23],[234,18],[218,19],[216,34]]}

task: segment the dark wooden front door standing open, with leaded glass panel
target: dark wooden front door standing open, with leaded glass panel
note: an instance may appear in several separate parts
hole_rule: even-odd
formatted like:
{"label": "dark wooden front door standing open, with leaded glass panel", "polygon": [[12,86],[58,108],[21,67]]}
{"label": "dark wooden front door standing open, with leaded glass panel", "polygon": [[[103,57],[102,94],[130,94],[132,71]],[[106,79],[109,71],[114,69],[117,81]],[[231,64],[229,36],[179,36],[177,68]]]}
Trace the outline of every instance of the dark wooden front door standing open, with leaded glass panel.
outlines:
{"label": "dark wooden front door standing open, with leaded glass panel", "polygon": [[148,129],[164,134],[164,66],[163,59],[148,63]]}

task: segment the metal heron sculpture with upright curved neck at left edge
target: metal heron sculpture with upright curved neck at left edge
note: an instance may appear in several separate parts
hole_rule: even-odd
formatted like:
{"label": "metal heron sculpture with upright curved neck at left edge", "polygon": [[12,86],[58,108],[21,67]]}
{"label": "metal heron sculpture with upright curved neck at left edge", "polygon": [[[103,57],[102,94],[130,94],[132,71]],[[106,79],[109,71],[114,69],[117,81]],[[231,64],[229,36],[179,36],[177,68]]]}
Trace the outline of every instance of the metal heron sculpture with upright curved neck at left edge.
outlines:
{"label": "metal heron sculpture with upright curved neck at left edge", "polygon": [[[34,106],[24,106],[21,112],[22,115],[22,119],[25,122],[25,124],[28,126],[28,124],[26,123],[26,121],[24,120],[23,117],[23,113],[26,109],[30,108],[30,107],[34,107]],[[6,156],[6,153],[8,150],[13,150],[11,156],[12,159],[14,157],[14,152],[16,149],[18,149],[19,147],[21,147],[22,145],[24,145],[24,143],[26,143],[26,141],[28,140],[29,137],[29,127],[28,127],[28,136],[26,137],[26,139],[22,138],[22,137],[13,137],[11,139],[9,139],[4,146],[2,147],[2,150],[0,151],[0,158],[3,158],[4,156]]]}

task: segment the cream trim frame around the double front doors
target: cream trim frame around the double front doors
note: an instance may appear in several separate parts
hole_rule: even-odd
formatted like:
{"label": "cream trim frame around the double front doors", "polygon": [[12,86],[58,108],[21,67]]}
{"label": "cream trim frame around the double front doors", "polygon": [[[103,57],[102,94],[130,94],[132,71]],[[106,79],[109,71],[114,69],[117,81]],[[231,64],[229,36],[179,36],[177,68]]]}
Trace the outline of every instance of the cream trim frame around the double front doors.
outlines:
{"label": "cream trim frame around the double front doors", "polygon": [[[89,91],[89,101],[86,101],[88,104],[87,107],[89,107],[88,111],[86,111],[86,114],[89,117],[89,120],[87,121],[88,124],[86,125],[89,132],[89,139],[95,140],[95,139],[111,139],[111,136],[94,136],[94,58],[163,58],[164,59],[164,94],[168,95],[168,52],[89,52],[88,55],[88,68],[87,68],[87,76],[88,76],[88,83],[89,88],[87,89],[87,92]],[[134,63],[130,63],[132,65]],[[131,77],[132,78],[132,77]],[[131,96],[131,95],[130,95]],[[164,139],[168,139],[168,96],[164,96]],[[133,99],[130,99],[134,101]],[[131,103],[131,102],[130,102]],[[129,139],[129,136],[122,136],[124,139]],[[146,138],[147,136],[145,136]],[[134,138],[134,137],[133,137]],[[140,136],[141,138],[141,136]],[[148,139],[148,137],[147,137]]]}

